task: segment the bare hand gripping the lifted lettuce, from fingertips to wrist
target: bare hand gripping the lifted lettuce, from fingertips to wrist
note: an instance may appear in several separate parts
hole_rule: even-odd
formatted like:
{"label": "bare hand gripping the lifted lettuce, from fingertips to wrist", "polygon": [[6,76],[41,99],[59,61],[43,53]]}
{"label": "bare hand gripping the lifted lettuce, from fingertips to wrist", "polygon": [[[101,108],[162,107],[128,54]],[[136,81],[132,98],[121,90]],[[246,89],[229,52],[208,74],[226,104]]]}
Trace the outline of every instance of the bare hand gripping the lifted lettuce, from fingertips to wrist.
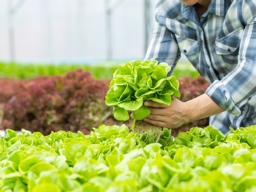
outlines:
{"label": "bare hand gripping the lifted lettuce, from fingertips to wrist", "polygon": [[[150,115],[143,119],[147,123],[175,129],[190,122],[187,105],[174,97],[169,106],[154,101],[145,101],[144,105],[150,109]],[[131,114],[131,117],[133,118],[133,114]]]}

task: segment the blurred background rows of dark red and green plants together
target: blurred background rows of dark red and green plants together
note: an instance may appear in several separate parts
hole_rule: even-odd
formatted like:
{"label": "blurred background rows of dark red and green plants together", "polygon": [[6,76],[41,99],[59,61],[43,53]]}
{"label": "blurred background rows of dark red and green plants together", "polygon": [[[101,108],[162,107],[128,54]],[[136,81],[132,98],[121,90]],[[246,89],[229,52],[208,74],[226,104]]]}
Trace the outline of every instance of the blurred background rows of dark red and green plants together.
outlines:
{"label": "blurred background rows of dark red and green plants together", "polygon": [[[80,130],[86,134],[101,124],[129,124],[130,120],[115,120],[112,107],[105,104],[109,82],[120,64],[125,62],[97,66],[0,63],[1,129],[24,128],[43,134]],[[179,63],[173,75],[179,80],[184,102],[203,94],[209,86],[189,63]],[[207,125],[208,118],[197,120],[172,130],[172,135]]]}

